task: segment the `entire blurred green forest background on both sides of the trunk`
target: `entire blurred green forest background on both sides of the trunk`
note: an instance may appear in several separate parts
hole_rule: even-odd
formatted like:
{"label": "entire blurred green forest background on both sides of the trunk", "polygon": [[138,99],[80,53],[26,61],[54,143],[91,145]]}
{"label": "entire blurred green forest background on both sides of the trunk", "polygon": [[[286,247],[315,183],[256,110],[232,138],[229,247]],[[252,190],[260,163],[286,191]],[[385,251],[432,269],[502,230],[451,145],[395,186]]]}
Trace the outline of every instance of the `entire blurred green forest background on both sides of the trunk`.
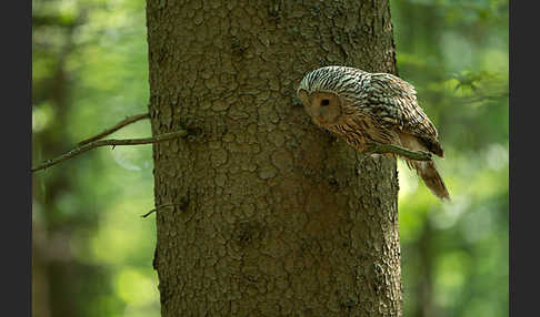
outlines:
{"label": "entire blurred green forest background on both sides of the trunk", "polygon": [[[33,0],[33,161],[147,111],[144,2]],[[392,0],[400,76],[439,129],[442,204],[399,164],[404,316],[508,316],[508,0]],[[150,135],[147,121],[114,137]],[[149,145],[33,175],[33,316],[159,316]]]}

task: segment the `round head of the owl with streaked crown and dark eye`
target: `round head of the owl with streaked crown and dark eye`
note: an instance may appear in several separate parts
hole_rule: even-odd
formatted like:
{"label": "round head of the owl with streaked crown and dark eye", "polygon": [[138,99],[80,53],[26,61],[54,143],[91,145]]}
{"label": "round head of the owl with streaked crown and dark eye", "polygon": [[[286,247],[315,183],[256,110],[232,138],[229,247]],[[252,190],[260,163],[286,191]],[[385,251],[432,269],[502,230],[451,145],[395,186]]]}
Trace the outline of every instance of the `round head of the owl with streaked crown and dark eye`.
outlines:
{"label": "round head of the owl with streaked crown and dark eye", "polygon": [[357,69],[324,67],[309,72],[297,94],[313,122],[323,127],[341,123],[343,105],[351,103],[359,88]]}

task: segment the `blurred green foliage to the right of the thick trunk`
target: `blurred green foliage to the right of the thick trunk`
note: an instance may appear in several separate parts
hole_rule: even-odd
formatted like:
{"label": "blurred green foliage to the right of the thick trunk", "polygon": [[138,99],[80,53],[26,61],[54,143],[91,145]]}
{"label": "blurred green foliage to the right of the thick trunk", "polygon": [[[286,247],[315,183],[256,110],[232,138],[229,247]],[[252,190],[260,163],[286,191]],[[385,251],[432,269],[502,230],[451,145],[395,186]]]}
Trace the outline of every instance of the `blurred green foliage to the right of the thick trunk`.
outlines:
{"label": "blurred green foliage to the right of the thick trunk", "polygon": [[452,197],[399,165],[404,316],[508,316],[508,1],[391,9],[399,74],[438,126]]}

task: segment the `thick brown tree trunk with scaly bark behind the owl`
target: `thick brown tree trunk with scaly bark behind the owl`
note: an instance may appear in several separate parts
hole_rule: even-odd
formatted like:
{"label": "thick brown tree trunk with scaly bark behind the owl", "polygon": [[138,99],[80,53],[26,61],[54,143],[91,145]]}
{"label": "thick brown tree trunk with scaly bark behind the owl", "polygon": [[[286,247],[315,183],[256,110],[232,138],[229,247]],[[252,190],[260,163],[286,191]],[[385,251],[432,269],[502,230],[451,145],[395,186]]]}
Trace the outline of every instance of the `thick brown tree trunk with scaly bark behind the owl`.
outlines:
{"label": "thick brown tree trunk with scaly bark behind the owl", "polygon": [[388,1],[147,3],[162,316],[401,316],[396,161],[316,127],[310,70],[396,72]]}

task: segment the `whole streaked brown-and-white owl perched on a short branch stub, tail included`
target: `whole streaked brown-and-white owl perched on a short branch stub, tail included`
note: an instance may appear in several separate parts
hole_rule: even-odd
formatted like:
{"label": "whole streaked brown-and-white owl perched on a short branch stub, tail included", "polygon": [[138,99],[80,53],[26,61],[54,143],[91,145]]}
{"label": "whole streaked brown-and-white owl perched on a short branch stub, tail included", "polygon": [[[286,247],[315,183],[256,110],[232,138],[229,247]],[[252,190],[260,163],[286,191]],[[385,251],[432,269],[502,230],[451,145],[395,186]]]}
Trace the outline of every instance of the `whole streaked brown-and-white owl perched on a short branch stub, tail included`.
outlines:
{"label": "whole streaked brown-and-white owl perched on a short branch stub, tail included", "polygon": [[[437,130],[418,105],[414,88],[392,74],[324,67],[308,73],[297,93],[317,125],[359,152],[366,144],[379,143],[443,157]],[[436,196],[450,198],[433,161],[406,160]]]}

